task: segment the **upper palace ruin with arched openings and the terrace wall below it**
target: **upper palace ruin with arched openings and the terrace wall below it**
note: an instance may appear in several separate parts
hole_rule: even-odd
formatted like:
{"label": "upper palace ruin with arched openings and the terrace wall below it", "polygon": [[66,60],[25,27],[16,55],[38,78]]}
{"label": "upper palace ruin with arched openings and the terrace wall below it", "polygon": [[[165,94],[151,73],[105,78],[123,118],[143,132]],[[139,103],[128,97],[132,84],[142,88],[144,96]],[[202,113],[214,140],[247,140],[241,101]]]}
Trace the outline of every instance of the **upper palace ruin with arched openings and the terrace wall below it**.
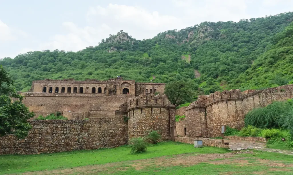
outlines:
{"label": "upper palace ruin with arched openings and the terrace wall below it", "polygon": [[[38,80],[30,92],[22,93],[23,103],[39,115],[60,111],[68,119],[113,116],[127,109],[128,98],[163,93],[164,83],[135,83],[134,80]],[[125,104],[125,105],[124,105]],[[33,120],[33,119],[31,119]]]}

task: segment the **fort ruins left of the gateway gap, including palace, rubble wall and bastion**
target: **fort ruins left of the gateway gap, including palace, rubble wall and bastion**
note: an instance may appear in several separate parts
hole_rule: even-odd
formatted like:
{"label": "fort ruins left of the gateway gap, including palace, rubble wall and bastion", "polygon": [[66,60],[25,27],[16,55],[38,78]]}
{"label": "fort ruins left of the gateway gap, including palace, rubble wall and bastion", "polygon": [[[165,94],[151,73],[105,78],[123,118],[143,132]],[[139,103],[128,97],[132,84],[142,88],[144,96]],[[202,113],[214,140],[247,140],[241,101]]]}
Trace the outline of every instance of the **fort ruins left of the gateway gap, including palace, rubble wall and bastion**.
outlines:
{"label": "fort ruins left of the gateway gap, including palace, rubble wall and bastion", "polygon": [[30,92],[22,93],[30,111],[36,117],[60,111],[69,120],[30,121],[33,128],[25,139],[0,137],[0,154],[113,148],[151,130],[165,140],[175,126],[175,106],[165,95],[155,96],[164,87],[121,79],[33,81]]}

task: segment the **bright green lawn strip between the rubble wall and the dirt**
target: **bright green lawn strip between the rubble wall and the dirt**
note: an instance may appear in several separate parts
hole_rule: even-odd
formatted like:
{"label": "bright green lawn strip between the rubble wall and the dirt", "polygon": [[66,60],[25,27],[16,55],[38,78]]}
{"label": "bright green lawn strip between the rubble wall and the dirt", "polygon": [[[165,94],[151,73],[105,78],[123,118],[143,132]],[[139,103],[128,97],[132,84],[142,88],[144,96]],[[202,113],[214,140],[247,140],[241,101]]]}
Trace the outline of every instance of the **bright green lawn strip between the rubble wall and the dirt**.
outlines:
{"label": "bright green lawn strip between the rubble wall and the dirt", "polygon": [[72,152],[40,154],[40,155],[1,155],[0,174],[20,173],[26,171],[40,171],[66,169],[71,167],[93,164],[106,164],[128,160],[149,159],[167,155],[183,153],[227,153],[228,150],[215,147],[194,148],[191,144],[177,142],[161,142],[149,147],[147,153],[130,155],[130,148],[100,150],[79,150]]}

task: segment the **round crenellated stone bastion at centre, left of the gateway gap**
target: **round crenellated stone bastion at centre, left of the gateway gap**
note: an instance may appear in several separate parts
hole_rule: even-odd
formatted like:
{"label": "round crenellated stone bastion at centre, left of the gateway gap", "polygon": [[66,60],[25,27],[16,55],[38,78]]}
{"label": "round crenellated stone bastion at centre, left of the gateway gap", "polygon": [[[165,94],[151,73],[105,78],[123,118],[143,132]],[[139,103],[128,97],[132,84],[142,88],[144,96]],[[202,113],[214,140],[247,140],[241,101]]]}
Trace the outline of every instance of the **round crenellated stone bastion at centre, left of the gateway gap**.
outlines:
{"label": "round crenellated stone bastion at centre, left of the gateway gap", "polygon": [[163,140],[170,136],[170,123],[175,122],[170,110],[175,110],[175,107],[166,95],[139,95],[129,99],[127,106],[128,140],[147,136],[152,130],[158,131]]}

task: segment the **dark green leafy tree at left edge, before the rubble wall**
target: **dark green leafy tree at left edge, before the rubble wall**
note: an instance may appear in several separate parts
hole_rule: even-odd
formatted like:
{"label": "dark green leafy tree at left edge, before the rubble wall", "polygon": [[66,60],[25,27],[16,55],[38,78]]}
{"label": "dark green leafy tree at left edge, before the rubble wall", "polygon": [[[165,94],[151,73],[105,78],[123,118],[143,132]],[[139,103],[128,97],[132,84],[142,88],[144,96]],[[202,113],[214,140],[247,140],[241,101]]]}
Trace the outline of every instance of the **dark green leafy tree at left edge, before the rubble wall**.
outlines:
{"label": "dark green leafy tree at left edge, before the rubble wall", "polygon": [[27,120],[35,114],[22,104],[23,96],[17,94],[12,85],[11,76],[0,65],[0,136],[14,134],[24,138],[32,128]]}

